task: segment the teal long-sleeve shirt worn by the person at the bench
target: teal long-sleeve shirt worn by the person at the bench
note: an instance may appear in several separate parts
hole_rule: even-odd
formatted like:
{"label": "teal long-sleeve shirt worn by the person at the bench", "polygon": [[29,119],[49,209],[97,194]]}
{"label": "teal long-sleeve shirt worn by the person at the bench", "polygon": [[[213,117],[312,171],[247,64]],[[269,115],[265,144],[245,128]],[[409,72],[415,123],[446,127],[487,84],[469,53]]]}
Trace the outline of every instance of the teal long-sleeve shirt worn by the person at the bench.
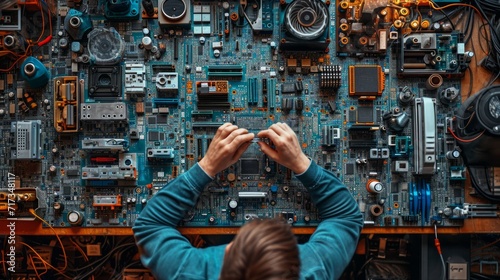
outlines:
{"label": "teal long-sleeve shirt worn by the person at the bench", "polygon": [[[299,245],[301,279],[337,279],[354,254],[363,225],[347,188],[333,173],[311,162],[296,176],[308,189],[322,218]],[[195,248],[176,229],[212,179],[199,165],[170,182],[145,207],[133,226],[142,263],[158,280],[218,279],[226,245]]]}

